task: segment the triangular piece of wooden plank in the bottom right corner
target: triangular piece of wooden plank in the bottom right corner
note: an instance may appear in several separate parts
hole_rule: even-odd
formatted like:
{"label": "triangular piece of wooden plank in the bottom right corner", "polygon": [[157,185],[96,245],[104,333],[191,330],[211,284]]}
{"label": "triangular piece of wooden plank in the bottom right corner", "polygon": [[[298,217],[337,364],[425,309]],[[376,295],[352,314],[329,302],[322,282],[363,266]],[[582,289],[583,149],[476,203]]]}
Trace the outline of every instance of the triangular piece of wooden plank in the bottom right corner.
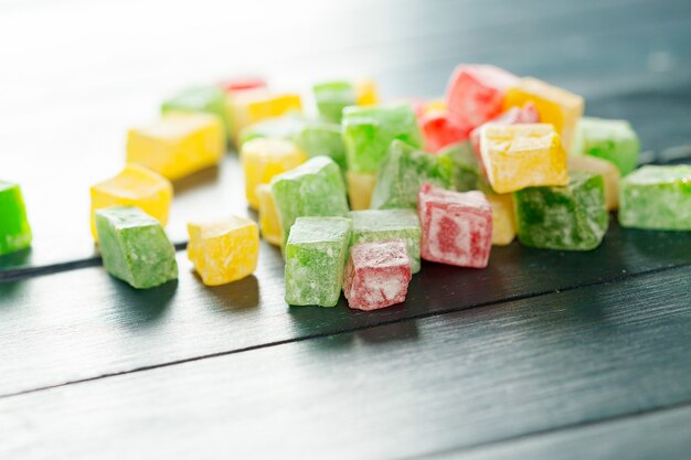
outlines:
{"label": "triangular piece of wooden plank in the bottom right corner", "polygon": [[626,416],[574,429],[528,436],[487,448],[454,450],[425,458],[500,460],[688,460],[691,457],[691,407]]}

